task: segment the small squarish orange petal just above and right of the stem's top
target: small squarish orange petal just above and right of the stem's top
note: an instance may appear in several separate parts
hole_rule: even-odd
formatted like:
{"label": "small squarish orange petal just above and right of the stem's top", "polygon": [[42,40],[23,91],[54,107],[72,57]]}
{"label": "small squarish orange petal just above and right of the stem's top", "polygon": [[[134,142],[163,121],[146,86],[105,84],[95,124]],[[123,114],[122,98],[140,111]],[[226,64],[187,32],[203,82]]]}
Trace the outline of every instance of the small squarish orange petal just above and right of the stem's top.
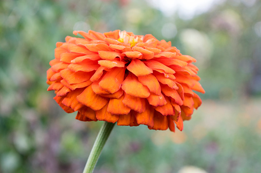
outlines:
{"label": "small squarish orange petal just above and right of the stem's top", "polygon": [[130,108],[123,104],[124,95],[116,99],[111,98],[107,111],[111,114],[129,114]]}

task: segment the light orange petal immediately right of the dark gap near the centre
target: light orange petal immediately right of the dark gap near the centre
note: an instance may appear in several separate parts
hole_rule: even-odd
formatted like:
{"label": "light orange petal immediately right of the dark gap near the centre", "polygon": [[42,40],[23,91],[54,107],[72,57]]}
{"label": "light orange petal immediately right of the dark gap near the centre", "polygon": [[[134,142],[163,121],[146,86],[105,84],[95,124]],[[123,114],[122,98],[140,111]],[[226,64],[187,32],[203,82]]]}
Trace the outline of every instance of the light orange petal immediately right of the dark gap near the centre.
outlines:
{"label": "light orange petal immediately right of the dark gap near the centre", "polygon": [[153,71],[139,59],[133,59],[127,69],[135,76],[145,76],[153,73]]}

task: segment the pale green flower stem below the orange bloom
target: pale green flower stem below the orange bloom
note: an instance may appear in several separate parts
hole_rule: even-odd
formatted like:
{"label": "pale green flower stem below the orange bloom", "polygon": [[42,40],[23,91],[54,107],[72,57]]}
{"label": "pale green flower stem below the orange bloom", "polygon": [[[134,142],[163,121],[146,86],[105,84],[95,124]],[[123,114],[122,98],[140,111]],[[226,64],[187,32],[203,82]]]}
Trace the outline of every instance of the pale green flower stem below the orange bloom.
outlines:
{"label": "pale green flower stem below the orange bloom", "polygon": [[93,144],[90,156],[87,160],[83,173],[91,173],[97,163],[99,155],[101,154],[103,147],[110,136],[112,128],[114,127],[115,123],[111,122],[104,122],[102,128],[99,130],[98,136]]}

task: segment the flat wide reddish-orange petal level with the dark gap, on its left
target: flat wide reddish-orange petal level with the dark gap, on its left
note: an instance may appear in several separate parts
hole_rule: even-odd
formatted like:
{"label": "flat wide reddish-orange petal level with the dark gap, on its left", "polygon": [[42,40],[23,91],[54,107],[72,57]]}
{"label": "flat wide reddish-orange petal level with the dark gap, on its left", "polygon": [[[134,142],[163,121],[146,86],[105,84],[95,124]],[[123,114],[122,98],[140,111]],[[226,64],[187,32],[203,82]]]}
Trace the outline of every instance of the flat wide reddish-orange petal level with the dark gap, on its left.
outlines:
{"label": "flat wide reddish-orange petal level with the dark gap, on its left", "polygon": [[67,68],[73,72],[83,71],[83,72],[91,72],[93,70],[97,70],[99,68],[99,64],[90,64],[89,62],[82,62],[79,64],[71,63]]}

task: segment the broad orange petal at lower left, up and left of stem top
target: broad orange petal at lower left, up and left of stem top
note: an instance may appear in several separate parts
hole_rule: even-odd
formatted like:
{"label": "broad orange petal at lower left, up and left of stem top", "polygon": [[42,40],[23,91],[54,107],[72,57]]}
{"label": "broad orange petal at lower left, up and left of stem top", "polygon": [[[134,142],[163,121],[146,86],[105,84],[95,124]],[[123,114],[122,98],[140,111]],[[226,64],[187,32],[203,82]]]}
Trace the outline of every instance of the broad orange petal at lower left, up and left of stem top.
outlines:
{"label": "broad orange petal at lower left, up and left of stem top", "polygon": [[108,98],[95,94],[92,91],[91,85],[89,85],[82,94],[77,96],[77,100],[94,111],[101,110],[108,102]]}

